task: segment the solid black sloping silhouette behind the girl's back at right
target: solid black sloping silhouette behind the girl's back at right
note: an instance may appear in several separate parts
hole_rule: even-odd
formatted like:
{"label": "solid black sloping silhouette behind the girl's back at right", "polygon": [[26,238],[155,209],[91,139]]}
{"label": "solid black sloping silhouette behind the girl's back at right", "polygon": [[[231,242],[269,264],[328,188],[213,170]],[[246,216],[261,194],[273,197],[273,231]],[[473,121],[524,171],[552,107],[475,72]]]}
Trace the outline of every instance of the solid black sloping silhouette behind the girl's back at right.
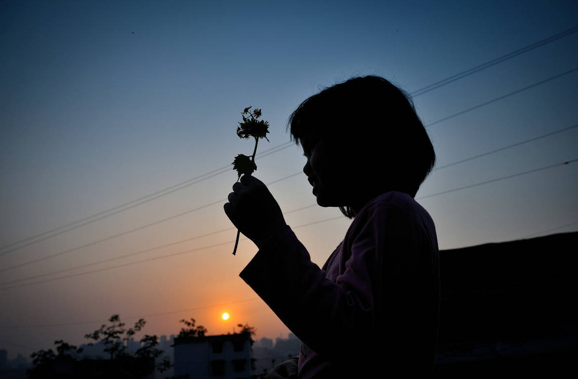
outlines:
{"label": "solid black sloping silhouette behind the girl's back at right", "polygon": [[576,372],[577,246],[573,232],[440,251],[433,377]]}

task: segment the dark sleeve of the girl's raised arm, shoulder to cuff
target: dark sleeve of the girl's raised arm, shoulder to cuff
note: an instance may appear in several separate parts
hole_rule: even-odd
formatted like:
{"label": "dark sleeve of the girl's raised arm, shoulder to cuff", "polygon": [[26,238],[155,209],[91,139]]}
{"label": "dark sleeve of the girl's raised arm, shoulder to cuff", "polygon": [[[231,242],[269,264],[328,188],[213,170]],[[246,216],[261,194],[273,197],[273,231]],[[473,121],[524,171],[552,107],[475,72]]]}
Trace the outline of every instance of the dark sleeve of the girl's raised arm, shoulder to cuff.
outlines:
{"label": "dark sleeve of the girl's raised arm, shoulder to cuff", "polygon": [[281,321],[329,362],[344,354],[370,354],[369,341],[384,327],[384,296],[397,296],[384,293],[384,285],[407,280],[403,276],[412,270],[413,263],[401,252],[411,248],[415,225],[402,211],[377,204],[357,218],[348,243],[351,256],[336,282],[311,262],[289,226],[267,241],[240,273]]}

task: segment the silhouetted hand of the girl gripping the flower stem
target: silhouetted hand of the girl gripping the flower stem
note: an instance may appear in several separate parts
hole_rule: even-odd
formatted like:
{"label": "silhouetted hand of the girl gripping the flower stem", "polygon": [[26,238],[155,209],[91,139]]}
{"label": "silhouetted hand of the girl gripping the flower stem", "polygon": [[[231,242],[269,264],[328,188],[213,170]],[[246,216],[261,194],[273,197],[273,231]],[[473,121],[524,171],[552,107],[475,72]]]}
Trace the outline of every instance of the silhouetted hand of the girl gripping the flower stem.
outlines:
{"label": "silhouetted hand of the girl gripping the flower stem", "polygon": [[267,186],[256,177],[243,175],[233,184],[223,209],[233,225],[258,248],[283,226],[287,225],[279,204]]}

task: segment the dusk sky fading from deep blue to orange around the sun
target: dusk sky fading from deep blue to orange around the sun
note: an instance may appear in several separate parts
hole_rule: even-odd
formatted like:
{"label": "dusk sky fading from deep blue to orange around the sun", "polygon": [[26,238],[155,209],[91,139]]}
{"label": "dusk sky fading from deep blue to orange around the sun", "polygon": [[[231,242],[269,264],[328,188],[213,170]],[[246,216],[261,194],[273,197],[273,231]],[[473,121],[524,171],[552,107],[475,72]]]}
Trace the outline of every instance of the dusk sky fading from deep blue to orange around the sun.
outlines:
{"label": "dusk sky fading from deep blue to orange around the sun", "polygon": [[231,254],[231,162],[254,146],[236,126],[262,109],[254,176],[322,266],[351,221],[314,206],[287,118],[354,76],[415,95],[440,249],[577,231],[578,32],[417,92],[576,20],[553,0],[1,2],[0,348],[86,343],[112,314],[287,337],[239,278],[257,248]]}

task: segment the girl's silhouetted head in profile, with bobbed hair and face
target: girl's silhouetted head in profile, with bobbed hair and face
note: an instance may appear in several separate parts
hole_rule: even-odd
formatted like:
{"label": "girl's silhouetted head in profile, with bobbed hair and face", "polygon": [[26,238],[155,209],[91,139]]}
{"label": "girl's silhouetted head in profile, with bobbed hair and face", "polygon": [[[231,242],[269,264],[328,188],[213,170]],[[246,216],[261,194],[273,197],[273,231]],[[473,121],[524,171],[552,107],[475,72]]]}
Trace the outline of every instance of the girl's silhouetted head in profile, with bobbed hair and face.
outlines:
{"label": "girl's silhouetted head in profile, with bobbed hair and face", "polygon": [[[324,187],[317,188],[319,205],[339,206],[350,218],[387,191],[414,197],[435,164],[410,96],[379,76],[325,88],[297,107],[287,127],[303,147],[303,171],[310,181],[325,178]],[[317,148],[319,140],[323,144]],[[323,172],[316,172],[312,154],[321,162],[317,171]]]}

